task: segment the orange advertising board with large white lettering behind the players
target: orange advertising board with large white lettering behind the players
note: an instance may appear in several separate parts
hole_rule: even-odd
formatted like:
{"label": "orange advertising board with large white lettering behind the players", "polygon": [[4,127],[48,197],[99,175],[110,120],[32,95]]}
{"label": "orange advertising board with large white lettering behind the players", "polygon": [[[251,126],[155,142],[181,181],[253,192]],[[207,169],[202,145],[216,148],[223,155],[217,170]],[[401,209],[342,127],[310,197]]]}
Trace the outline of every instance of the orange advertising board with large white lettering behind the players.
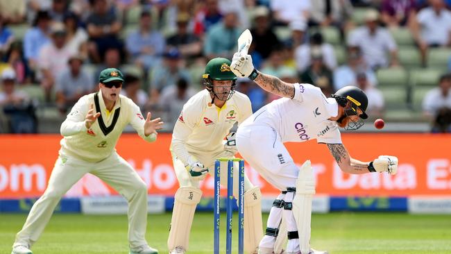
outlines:
{"label": "orange advertising board with large white lettering behind the players", "polygon": [[[60,135],[0,135],[0,197],[40,196],[58,157]],[[135,134],[119,139],[117,151],[148,186],[149,194],[173,196],[178,188],[169,153],[170,134],[158,135],[146,143]],[[343,173],[325,144],[316,141],[289,143],[297,164],[311,160],[316,175],[316,194],[330,196],[411,196],[451,194],[451,135],[430,134],[344,134],[343,142],[352,158],[370,161],[379,155],[396,155],[398,174]],[[262,187],[266,196],[279,193],[246,164],[250,180]],[[201,183],[205,196],[212,196],[214,183]],[[96,176],[87,174],[66,196],[108,196],[117,194]]]}

